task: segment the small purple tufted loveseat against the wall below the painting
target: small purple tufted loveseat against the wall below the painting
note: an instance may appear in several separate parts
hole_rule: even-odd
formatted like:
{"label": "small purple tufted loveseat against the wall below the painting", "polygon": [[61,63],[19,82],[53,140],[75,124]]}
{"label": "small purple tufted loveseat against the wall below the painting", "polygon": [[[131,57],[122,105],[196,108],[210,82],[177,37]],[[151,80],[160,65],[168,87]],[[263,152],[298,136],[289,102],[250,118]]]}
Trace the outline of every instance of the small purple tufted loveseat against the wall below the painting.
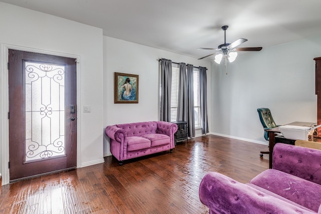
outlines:
{"label": "small purple tufted loveseat against the wall below the painting", "polygon": [[177,125],[154,121],[107,126],[110,152],[121,165],[123,160],[154,154],[175,148]]}

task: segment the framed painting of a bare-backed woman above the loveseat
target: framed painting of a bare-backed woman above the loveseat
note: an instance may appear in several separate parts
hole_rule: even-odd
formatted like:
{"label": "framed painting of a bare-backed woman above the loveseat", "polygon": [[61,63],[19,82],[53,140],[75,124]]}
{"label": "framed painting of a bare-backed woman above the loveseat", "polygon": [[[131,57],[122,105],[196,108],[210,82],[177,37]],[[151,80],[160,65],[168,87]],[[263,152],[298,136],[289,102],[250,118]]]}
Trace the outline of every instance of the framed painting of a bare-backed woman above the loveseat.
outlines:
{"label": "framed painting of a bare-backed woman above the loveseat", "polygon": [[114,103],[138,103],[138,75],[114,72]]}

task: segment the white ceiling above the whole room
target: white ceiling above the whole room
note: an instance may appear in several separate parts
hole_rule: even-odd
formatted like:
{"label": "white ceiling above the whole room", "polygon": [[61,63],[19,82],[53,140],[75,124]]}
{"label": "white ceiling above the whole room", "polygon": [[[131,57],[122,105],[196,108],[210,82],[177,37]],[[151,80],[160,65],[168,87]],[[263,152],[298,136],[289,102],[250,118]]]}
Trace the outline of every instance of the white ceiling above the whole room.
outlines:
{"label": "white ceiling above the whole room", "polygon": [[[103,29],[105,36],[195,58],[226,42],[271,47],[321,35],[320,0],[0,0]],[[209,57],[206,60],[211,60]]]}

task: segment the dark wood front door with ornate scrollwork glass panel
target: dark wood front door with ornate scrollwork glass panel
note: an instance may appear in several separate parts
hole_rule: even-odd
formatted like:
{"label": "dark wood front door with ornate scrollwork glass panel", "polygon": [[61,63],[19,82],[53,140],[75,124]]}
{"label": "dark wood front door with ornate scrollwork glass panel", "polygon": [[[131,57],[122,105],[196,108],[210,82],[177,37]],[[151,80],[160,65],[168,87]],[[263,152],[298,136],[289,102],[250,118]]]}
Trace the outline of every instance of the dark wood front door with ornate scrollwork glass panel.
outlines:
{"label": "dark wood front door with ornate scrollwork glass panel", "polygon": [[76,60],[9,50],[10,182],[77,165]]}

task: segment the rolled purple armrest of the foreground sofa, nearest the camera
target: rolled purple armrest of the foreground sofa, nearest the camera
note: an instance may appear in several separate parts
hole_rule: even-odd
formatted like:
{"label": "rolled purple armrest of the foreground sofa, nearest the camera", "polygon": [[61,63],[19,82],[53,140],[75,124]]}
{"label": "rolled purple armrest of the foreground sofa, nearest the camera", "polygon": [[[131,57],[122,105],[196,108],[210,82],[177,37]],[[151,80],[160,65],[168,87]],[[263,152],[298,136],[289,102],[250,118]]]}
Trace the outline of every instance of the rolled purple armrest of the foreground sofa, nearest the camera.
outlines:
{"label": "rolled purple armrest of the foreground sofa, nearest the camera", "polygon": [[313,213],[218,172],[203,177],[199,196],[210,213]]}

